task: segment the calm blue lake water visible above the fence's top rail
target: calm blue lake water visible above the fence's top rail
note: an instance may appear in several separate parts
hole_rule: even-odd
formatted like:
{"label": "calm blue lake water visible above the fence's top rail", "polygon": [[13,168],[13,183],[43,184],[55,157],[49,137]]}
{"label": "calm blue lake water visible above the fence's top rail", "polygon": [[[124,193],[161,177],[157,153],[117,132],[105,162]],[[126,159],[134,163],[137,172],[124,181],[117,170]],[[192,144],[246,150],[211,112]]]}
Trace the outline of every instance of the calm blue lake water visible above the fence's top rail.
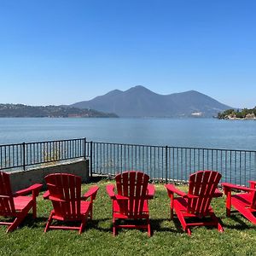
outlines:
{"label": "calm blue lake water visible above the fence's top rail", "polygon": [[0,144],[87,141],[256,150],[255,120],[1,118]]}

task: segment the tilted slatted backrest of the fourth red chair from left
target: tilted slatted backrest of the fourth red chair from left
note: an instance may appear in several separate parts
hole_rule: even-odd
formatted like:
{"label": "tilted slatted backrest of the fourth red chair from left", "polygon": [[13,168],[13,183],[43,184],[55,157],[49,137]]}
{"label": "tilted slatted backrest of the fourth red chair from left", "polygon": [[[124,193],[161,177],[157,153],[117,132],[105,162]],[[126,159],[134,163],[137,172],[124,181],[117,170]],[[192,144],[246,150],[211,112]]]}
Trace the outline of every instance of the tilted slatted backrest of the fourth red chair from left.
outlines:
{"label": "tilted slatted backrest of the fourth red chair from left", "polygon": [[200,171],[189,177],[189,195],[196,195],[196,198],[189,198],[188,211],[201,216],[207,215],[208,208],[212,201],[215,189],[221,178],[219,172]]}

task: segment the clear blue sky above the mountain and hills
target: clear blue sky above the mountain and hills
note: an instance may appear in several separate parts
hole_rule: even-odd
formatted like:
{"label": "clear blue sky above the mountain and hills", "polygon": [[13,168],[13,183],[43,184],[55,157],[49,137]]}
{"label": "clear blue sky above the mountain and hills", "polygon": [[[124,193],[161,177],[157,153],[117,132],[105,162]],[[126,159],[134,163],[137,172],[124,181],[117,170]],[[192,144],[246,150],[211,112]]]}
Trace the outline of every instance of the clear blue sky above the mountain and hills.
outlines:
{"label": "clear blue sky above the mountain and hills", "polygon": [[141,84],[256,106],[256,1],[0,0],[0,102],[71,104]]}

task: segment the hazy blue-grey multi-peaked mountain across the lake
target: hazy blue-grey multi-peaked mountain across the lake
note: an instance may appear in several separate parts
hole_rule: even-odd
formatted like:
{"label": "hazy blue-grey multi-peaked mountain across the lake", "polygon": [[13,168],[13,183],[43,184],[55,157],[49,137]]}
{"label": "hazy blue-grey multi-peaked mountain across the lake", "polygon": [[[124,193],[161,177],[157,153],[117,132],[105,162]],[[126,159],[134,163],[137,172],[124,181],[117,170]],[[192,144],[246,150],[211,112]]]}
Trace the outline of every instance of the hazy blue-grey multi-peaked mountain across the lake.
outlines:
{"label": "hazy blue-grey multi-peaked mountain across the lake", "polygon": [[116,113],[121,117],[212,117],[230,108],[195,90],[160,95],[141,85],[125,91],[112,90],[71,106]]}

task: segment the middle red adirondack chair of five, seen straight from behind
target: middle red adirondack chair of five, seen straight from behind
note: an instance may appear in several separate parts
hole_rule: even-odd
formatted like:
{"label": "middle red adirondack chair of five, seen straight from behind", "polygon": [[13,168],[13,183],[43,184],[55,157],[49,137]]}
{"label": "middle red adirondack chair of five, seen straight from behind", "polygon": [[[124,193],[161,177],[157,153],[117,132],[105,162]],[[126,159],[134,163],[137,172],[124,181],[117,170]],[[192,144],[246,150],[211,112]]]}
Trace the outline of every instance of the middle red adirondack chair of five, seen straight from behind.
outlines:
{"label": "middle red adirondack chair of five, seen straight from behind", "polygon": [[[115,186],[107,185],[107,192],[113,205],[113,236],[118,228],[147,229],[151,236],[148,200],[154,197],[154,185],[148,184],[149,176],[143,172],[123,172],[115,177]],[[146,224],[116,224],[117,219],[141,220]]]}

